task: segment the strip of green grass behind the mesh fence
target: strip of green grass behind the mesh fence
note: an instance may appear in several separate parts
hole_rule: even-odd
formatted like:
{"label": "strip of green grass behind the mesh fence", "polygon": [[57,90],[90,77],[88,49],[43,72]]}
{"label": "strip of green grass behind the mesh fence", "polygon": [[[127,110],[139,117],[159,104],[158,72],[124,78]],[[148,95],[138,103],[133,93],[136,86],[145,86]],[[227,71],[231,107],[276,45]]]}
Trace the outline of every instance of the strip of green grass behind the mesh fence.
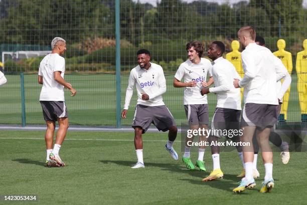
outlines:
{"label": "strip of green grass behind the mesh fence", "polygon": [[[0,124],[21,124],[21,92],[20,76],[7,75],[8,83],[0,88]],[[115,125],[115,75],[82,74],[66,75],[65,79],[77,90],[75,97],[70,97],[66,90],[65,99],[71,124],[77,125]],[[183,107],[183,88],[174,88],[174,74],[166,75],[167,92],[163,95],[177,124],[186,121]],[[288,121],[300,121],[300,109],[297,94],[297,77],[292,75],[292,86],[288,106]],[[128,76],[121,76],[121,106],[123,107]],[[42,108],[39,103],[41,85],[37,83],[37,75],[25,75],[25,98],[27,124],[44,124]],[[208,95],[210,119],[216,106],[216,95]],[[131,99],[127,119],[122,125],[132,122],[136,104],[136,92]]]}

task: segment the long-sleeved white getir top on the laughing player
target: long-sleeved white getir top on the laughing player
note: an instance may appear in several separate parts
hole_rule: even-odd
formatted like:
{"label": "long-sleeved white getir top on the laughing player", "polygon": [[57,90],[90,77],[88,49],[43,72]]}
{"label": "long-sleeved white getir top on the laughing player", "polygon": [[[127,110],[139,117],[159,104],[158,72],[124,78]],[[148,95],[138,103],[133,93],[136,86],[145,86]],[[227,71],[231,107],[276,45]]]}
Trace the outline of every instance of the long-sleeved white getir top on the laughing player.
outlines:
{"label": "long-sleeved white getir top on the laughing player", "polygon": [[[137,104],[146,106],[164,105],[162,94],[166,92],[166,80],[163,68],[151,63],[148,70],[136,66],[130,71],[124,109],[128,109],[136,84]],[[149,96],[149,100],[142,100],[142,93]]]}

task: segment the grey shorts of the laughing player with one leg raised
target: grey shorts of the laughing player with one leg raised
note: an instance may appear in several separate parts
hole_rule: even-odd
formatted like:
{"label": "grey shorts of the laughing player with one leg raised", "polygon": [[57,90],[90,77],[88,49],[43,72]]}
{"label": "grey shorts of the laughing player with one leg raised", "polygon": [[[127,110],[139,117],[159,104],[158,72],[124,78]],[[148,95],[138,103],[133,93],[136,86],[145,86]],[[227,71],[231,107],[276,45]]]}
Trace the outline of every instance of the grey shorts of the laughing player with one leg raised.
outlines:
{"label": "grey shorts of the laughing player with one leg raised", "polygon": [[176,126],[174,117],[167,106],[136,105],[132,127],[141,127],[145,133],[151,123],[164,132]]}

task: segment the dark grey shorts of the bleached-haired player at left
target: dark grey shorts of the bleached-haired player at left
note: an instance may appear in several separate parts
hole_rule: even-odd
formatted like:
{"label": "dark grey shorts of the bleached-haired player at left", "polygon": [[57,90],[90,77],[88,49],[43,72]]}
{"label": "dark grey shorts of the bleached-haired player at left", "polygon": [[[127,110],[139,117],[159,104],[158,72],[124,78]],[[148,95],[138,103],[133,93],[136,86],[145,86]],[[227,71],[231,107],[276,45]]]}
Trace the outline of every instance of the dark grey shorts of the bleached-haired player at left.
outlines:
{"label": "dark grey shorts of the bleached-haired player at left", "polygon": [[58,118],[68,117],[64,101],[40,101],[46,121],[57,121]]}

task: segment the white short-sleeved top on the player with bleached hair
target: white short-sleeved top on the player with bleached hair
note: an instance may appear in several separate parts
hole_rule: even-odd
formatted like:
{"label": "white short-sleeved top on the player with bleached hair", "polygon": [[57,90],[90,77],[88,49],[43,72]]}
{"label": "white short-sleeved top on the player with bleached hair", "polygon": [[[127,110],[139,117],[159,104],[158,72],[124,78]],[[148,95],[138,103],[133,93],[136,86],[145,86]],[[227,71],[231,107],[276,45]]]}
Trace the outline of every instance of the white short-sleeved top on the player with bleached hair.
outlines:
{"label": "white short-sleeved top on the player with bleached hair", "polygon": [[64,86],[54,80],[54,72],[61,71],[64,78],[65,59],[59,54],[48,54],[40,64],[39,75],[43,76],[40,101],[65,101]]}

